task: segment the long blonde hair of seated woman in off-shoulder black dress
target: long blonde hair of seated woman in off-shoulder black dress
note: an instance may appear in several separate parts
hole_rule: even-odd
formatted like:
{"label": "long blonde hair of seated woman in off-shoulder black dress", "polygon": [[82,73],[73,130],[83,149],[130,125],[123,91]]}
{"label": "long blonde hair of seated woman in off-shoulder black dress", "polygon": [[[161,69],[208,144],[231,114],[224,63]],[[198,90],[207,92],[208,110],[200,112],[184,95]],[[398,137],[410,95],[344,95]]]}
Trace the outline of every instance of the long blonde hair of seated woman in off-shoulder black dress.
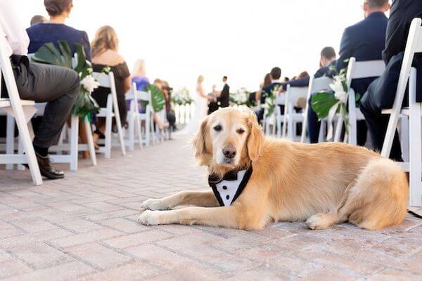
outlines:
{"label": "long blonde hair of seated woman in off-shoulder black dress", "polygon": [[119,48],[119,39],[117,33],[109,25],[100,27],[96,34],[94,41],[91,43],[92,56],[101,55],[107,50],[117,51]]}

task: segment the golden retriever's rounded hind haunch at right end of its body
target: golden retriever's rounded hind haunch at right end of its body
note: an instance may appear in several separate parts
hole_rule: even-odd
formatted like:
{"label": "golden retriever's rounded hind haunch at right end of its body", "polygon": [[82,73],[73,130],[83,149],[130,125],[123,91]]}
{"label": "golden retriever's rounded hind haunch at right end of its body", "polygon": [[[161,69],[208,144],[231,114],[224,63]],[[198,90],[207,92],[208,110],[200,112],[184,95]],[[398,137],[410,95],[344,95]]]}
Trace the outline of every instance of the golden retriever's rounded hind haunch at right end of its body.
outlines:
{"label": "golden retriever's rounded hind haunch at right end of its body", "polygon": [[362,228],[394,226],[406,215],[409,184],[399,164],[390,159],[369,162],[347,192],[338,216]]}

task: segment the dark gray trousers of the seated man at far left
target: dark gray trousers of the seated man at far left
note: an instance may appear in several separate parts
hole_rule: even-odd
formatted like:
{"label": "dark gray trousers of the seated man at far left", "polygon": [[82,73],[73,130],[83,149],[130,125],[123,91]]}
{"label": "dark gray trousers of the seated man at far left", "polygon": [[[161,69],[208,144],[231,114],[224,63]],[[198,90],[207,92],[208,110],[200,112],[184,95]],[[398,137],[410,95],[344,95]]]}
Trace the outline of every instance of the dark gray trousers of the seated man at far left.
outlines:
{"label": "dark gray trousers of the seated man at far left", "polygon": [[29,63],[25,56],[13,55],[12,65],[20,98],[47,103],[34,145],[56,145],[79,95],[79,75],[65,67]]}

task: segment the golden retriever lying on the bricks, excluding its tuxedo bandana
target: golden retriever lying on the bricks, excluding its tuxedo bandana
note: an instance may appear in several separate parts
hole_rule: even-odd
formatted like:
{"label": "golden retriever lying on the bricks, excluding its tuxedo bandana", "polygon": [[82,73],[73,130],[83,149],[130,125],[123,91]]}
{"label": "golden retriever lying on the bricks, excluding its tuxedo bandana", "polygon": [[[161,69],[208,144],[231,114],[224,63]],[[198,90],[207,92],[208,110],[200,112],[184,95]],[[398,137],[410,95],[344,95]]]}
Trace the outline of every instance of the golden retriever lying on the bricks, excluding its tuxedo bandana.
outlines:
{"label": "golden retriever lying on the bricks, excluding its tuxedo bandana", "polygon": [[[265,138],[253,112],[217,110],[203,120],[193,145],[210,174],[252,164],[245,189],[228,207],[219,207],[212,190],[146,200],[141,223],[261,230],[274,221],[307,220],[312,229],[349,221],[377,230],[401,223],[407,211],[407,178],[397,163],[344,143]],[[236,156],[227,158],[226,148]],[[181,205],[197,207],[174,209]]]}

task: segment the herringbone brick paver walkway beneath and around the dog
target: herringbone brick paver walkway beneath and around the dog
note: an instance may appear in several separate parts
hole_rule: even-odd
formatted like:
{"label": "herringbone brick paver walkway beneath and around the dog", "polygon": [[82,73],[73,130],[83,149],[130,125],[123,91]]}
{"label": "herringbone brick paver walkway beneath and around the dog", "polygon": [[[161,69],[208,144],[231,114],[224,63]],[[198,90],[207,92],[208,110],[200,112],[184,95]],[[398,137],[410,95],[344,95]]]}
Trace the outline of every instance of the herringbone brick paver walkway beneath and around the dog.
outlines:
{"label": "herringbone brick paver walkway beneath and around the dog", "polygon": [[422,220],[366,231],[136,223],[149,197],[206,188],[186,139],[80,163],[60,181],[0,170],[1,280],[422,280]]}

